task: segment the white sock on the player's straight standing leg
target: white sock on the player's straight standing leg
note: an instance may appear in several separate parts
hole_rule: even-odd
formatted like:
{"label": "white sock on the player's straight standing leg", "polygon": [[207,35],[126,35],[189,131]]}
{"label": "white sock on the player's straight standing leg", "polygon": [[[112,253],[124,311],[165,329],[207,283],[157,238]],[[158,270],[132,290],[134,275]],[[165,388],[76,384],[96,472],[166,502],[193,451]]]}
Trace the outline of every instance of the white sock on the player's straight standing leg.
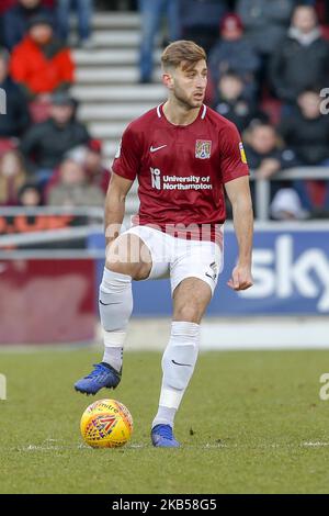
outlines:
{"label": "white sock on the player's straight standing leg", "polygon": [[175,412],[194,371],[198,344],[198,324],[172,323],[170,340],[162,357],[161,394],[152,427],[159,424],[173,426]]}

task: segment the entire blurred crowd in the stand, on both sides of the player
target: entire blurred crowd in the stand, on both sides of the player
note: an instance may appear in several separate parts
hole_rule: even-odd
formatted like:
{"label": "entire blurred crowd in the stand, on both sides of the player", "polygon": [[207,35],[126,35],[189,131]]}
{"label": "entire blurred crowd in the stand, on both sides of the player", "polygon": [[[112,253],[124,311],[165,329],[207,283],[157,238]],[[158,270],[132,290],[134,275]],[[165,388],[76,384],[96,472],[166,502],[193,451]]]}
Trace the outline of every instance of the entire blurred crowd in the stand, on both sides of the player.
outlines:
{"label": "entire blurred crowd in the stand, on both sides of the player", "polygon": [[[104,2],[103,2],[104,3]],[[102,7],[103,7],[102,3]],[[207,103],[242,134],[254,178],[328,167],[329,8],[324,0],[138,0],[139,82],[155,78],[154,47],[193,40],[208,54]],[[117,2],[105,2],[115,9]],[[78,120],[71,46],[93,46],[92,0],[0,4],[0,205],[102,205],[101,143]],[[78,18],[72,43],[68,13]],[[163,20],[166,23],[163,24]],[[329,181],[271,182],[271,216],[328,216]],[[252,194],[254,194],[252,187]]]}

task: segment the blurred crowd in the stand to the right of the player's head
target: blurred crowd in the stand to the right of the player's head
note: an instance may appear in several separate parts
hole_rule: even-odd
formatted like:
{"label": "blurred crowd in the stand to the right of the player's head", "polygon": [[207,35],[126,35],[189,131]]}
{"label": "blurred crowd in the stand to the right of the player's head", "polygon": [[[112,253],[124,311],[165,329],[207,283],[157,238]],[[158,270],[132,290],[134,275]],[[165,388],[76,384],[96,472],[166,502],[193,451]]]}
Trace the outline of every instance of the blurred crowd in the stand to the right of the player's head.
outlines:
{"label": "blurred crowd in the stand to the right of the player's head", "polygon": [[[207,103],[238,126],[253,178],[273,179],[293,167],[329,170],[329,116],[321,113],[321,90],[329,87],[329,2],[138,4],[141,83],[152,81],[152,48],[164,14],[168,41],[193,40],[206,49]],[[254,182],[251,187],[254,197]],[[329,181],[272,181],[271,201],[273,218],[329,216]]]}

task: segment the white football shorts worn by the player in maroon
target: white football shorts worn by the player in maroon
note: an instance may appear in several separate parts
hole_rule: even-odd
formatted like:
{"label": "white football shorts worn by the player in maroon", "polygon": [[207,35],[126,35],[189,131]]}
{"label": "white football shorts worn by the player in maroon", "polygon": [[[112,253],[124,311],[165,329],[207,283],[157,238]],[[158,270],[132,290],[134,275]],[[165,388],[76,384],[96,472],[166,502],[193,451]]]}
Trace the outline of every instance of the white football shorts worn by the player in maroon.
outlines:
{"label": "white football shorts worn by the player in maroon", "polygon": [[223,251],[209,240],[186,240],[148,226],[133,226],[124,234],[137,235],[148,247],[152,266],[147,280],[170,278],[171,293],[186,278],[205,281],[214,294],[223,270]]}

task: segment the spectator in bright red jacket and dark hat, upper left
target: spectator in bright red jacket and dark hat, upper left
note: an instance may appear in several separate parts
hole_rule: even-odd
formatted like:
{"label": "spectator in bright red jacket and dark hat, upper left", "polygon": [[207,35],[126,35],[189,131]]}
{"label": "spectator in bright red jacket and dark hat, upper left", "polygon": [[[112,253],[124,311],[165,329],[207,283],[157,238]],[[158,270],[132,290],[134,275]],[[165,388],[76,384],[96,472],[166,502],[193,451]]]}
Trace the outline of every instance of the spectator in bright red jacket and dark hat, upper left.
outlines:
{"label": "spectator in bright red jacket and dark hat, upper left", "polygon": [[29,33],[12,53],[11,74],[30,99],[48,97],[73,82],[75,66],[70,51],[54,36],[48,16],[29,22]]}

